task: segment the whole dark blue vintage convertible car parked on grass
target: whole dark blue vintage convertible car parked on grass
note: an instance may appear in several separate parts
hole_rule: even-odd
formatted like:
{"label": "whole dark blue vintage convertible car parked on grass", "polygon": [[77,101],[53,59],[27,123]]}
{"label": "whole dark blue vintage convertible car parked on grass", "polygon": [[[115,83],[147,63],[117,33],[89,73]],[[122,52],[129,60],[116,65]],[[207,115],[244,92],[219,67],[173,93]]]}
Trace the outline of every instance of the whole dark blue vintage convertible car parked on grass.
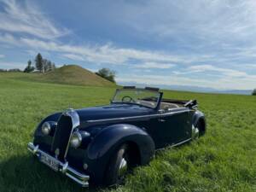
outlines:
{"label": "whole dark blue vintage convertible car parked on grass", "polygon": [[45,118],[28,149],[83,187],[121,183],[157,149],[202,136],[206,120],[197,102],[162,98],[156,88],[124,87],[107,106],[67,109]]}

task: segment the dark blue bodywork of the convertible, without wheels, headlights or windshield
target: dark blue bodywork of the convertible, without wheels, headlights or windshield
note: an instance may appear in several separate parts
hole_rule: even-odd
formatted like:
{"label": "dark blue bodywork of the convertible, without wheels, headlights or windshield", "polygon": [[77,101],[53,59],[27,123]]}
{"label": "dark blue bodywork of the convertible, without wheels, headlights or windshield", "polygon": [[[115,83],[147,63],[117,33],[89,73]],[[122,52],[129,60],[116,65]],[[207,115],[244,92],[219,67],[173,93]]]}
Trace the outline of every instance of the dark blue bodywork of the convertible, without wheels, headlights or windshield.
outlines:
{"label": "dark blue bodywork of the convertible, without wheels, headlights or windshield", "polygon": [[[167,106],[170,103],[170,108],[161,108],[162,103]],[[38,125],[28,149],[39,160],[43,154],[49,155],[48,164],[52,164],[50,158],[54,158],[58,171],[82,186],[101,185],[109,160],[123,143],[131,146],[137,165],[146,165],[156,149],[193,139],[195,127],[199,135],[204,134],[206,120],[196,105],[196,101],[163,99],[160,93],[156,108],[110,103],[96,108],[69,109],[45,118]],[[55,122],[49,135],[41,131],[44,122]],[[74,131],[79,131],[83,137],[79,148],[69,146]]]}

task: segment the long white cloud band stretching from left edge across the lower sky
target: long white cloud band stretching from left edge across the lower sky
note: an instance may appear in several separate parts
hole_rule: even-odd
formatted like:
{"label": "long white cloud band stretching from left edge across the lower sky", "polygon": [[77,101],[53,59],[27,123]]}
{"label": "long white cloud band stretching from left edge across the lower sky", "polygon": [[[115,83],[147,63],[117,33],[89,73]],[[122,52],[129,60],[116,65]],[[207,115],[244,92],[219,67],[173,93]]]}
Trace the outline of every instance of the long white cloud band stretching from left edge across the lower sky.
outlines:
{"label": "long white cloud band stretching from left edge across the lower sky", "polygon": [[[54,41],[44,41],[37,38],[15,38],[10,34],[0,34],[0,42],[12,44],[17,47],[38,49],[61,53],[63,56],[75,61],[90,61],[95,63],[108,63],[115,65],[127,64],[130,60],[146,63],[149,67],[155,67],[156,63],[183,63],[201,61],[201,57],[189,55],[172,55],[160,51],[117,48],[112,44],[102,46],[60,44]],[[162,68],[171,67],[172,64],[164,64]]]}

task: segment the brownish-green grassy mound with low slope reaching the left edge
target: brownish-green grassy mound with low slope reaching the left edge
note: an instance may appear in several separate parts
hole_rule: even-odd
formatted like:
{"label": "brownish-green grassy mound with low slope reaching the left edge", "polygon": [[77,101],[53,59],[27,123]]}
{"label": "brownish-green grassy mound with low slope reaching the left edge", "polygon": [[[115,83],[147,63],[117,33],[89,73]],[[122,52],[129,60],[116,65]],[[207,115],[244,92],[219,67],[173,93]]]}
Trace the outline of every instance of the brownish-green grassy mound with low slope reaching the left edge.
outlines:
{"label": "brownish-green grassy mound with low slope reaching the left edge", "polygon": [[93,85],[93,86],[115,86],[107,79],[92,73],[83,67],[68,65],[56,68],[49,73],[0,73],[1,76],[10,79],[20,79],[37,82],[47,82],[55,84],[75,84],[75,85]]}

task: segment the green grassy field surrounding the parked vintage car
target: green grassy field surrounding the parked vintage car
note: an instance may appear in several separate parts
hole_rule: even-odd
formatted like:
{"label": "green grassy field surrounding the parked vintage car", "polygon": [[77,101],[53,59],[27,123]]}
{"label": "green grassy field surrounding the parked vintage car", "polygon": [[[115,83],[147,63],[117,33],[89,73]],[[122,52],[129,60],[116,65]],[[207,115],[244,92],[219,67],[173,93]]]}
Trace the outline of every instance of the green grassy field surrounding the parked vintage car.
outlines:
{"label": "green grassy field surrounding the parked vintage car", "polygon": [[[47,84],[0,73],[0,191],[88,191],[50,171],[26,150],[34,127],[49,113],[108,103],[113,88]],[[256,191],[256,96],[165,91],[196,98],[207,134],[166,148],[117,189],[99,191]]]}

